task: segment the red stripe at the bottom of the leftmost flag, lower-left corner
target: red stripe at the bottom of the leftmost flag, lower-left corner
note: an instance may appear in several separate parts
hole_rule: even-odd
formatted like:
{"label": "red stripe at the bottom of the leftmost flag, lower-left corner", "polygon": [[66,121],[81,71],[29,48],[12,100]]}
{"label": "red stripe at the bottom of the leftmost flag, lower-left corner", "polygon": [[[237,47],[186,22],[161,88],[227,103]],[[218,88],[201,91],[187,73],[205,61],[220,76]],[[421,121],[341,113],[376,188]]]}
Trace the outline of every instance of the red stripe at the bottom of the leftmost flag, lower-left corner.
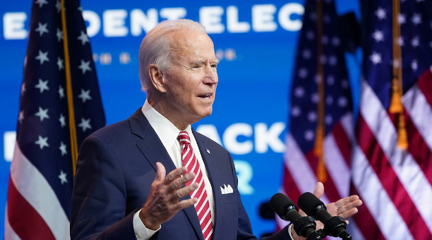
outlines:
{"label": "red stripe at the bottom of the leftmost flag, lower-left corner", "polygon": [[39,213],[16,190],[9,177],[8,219],[11,228],[21,239],[56,239]]}

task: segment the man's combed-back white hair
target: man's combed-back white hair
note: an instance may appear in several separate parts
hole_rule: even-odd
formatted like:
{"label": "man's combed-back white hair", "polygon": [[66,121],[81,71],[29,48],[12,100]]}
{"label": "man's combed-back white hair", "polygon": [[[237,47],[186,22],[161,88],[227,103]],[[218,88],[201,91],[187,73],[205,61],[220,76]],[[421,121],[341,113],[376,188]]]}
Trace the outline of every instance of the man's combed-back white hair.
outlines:
{"label": "man's combed-back white hair", "polygon": [[147,72],[149,64],[157,64],[162,71],[171,67],[173,56],[168,36],[179,29],[206,32],[201,23],[189,19],[165,20],[150,30],[139,47],[139,79],[143,91],[152,87],[152,80]]}

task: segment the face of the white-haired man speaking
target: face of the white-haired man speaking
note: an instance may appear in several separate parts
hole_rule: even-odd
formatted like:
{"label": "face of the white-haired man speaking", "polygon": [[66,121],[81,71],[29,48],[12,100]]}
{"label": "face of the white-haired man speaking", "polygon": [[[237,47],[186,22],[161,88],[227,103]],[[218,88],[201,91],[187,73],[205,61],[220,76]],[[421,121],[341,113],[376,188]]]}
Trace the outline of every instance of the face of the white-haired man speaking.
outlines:
{"label": "face of the white-haired man speaking", "polygon": [[[178,31],[172,34],[171,69],[163,73],[166,112],[185,125],[211,115],[217,86],[213,41],[205,33]],[[170,119],[171,120],[171,119]]]}

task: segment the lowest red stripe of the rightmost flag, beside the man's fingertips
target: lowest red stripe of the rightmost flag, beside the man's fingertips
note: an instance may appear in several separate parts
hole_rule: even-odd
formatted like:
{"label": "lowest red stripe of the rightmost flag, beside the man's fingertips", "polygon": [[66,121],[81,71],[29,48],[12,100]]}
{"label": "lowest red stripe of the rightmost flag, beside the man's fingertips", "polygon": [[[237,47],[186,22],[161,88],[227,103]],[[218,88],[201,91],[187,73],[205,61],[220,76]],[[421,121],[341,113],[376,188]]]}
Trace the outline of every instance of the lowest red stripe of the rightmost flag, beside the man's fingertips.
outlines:
{"label": "lowest red stripe of the rightmost flag, beside the man's fingertips", "polygon": [[[357,188],[354,186],[354,184],[352,184],[352,182],[350,193],[352,195],[359,195],[361,198],[361,195],[357,191]],[[379,230],[378,224],[376,224],[374,217],[372,217],[372,215],[370,214],[368,206],[363,204],[357,208],[359,209],[359,212],[356,215],[352,216],[352,218],[354,219],[357,228],[359,228],[359,230],[361,231],[364,239],[385,240],[385,237],[381,230]]]}

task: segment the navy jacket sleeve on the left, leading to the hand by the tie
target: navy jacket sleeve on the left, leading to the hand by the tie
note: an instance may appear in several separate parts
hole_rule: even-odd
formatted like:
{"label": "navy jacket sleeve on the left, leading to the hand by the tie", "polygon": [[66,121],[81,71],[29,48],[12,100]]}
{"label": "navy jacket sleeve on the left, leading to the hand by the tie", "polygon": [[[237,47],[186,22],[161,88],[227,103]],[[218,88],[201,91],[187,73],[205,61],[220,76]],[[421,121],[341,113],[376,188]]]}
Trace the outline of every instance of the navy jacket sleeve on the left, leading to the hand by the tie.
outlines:
{"label": "navy jacket sleeve on the left, leading to the hand by the tie", "polygon": [[123,172],[115,154],[97,136],[82,143],[74,176],[71,239],[136,239],[126,215]]}

